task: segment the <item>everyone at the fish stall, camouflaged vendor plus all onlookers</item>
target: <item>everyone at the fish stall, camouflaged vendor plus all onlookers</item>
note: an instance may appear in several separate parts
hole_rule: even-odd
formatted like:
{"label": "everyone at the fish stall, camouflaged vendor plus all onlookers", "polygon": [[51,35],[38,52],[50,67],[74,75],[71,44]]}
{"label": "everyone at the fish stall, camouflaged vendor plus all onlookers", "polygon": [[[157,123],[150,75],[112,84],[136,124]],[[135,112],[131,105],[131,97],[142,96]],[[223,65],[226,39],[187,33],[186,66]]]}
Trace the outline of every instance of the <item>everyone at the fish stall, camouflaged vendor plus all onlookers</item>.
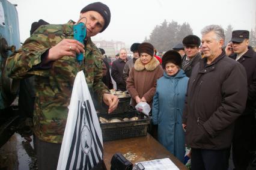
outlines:
{"label": "everyone at the fish stall, camouflaged vendor plus all onlookers", "polygon": [[[109,71],[105,51],[91,37],[103,32],[111,11],[101,2],[82,8],[78,22],[42,23],[19,52],[7,59],[8,76],[34,81],[33,132],[38,169],[56,169],[67,121],[73,82],[83,70],[97,103],[111,113],[118,98],[113,88],[128,91],[136,106],[151,107],[150,133],[178,160],[190,147],[191,169],[228,169],[232,148],[237,169],[246,169],[255,152],[256,52],[249,31],[236,30],[224,47],[224,29],[209,25],[202,37],[187,35],[182,43],[156,55],[153,44],[133,43],[133,58],[120,49]],[[87,26],[84,43],[73,38],[73,25]],[[83,53],[81,64],[76,54]]]}

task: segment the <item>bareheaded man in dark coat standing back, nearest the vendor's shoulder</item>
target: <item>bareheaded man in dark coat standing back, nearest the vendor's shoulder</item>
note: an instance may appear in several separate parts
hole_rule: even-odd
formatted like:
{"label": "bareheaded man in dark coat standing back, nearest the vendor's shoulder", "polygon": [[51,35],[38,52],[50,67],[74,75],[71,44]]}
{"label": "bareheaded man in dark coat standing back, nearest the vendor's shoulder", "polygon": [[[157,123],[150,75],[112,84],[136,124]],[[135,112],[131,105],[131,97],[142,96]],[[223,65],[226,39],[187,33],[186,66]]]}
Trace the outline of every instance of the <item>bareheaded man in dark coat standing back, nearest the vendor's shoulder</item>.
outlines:
{"label": "bareheaded man in dark coat standing back, nearest the vendor's shoulder", "polygon": [[111,68],[111,76],[117,83],[117,90],[126,91],[126,82],[124,81],[122,74],[124,65],[127,62],[127,50],[120,49],[119,58],[116,59]]}

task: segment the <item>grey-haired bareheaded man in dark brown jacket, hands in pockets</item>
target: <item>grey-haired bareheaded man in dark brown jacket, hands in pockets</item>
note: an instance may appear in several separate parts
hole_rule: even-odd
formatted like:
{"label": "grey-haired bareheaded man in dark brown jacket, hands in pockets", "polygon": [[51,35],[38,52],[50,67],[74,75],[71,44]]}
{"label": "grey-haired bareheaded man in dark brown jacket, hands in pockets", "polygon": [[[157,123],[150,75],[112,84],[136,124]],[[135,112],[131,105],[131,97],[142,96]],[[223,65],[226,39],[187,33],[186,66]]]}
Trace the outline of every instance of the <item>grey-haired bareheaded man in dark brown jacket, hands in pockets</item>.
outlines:
{"label": "grey-haired bareheaded man in dark brown jacket, hands in pockets", "polygon": [[227,170],[234,121],[246,105],[246,71],[222,51],[221,26],[206,26],[201,34],[205,58],[193,68],[187,87],[186,143],[192,151],[192,170]]}

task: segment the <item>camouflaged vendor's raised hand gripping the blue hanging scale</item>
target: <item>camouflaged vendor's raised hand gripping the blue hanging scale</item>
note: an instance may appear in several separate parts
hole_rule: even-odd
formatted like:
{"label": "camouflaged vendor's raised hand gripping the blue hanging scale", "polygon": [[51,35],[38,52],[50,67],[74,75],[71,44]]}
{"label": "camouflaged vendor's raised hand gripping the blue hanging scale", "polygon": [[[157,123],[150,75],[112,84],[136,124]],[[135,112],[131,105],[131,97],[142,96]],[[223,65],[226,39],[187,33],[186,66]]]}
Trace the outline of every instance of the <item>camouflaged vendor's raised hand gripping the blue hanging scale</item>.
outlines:
{"label": "camouflaged vendor's raised hand gripping the blue hanging scale", "polygon": [[44,64],[50,61],[56,61],[66,55],[76,57],[76,54],[81,52],[85,52],[84,44],[80,43],[78,40],[63,39],[56,44],[56,46],[49,49]]}

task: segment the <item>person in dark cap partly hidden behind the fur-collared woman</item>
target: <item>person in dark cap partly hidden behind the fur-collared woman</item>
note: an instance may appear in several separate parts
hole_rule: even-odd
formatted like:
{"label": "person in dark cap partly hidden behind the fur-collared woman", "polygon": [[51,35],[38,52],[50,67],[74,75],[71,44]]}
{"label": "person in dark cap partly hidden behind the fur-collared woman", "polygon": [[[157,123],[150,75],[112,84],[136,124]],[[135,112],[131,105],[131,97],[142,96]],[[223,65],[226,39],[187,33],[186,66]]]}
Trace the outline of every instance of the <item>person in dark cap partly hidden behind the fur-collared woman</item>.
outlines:
{"label": "person in dark cap partly hidden behind the fur-collared woman", "polygon": [[139,52],[138,52],[139,44],[141,44],[141,43],[133,43],[132,46],[130,46],[130,51],[133,53],[133,58],[129,59],[126,62],[126,65],[124,65],[124,70],[123,70],[123,74],[122,74],[124,81],[126,81],[126,79],[129,77],[130,70],[132,69],[136,59],[139,58]]}

